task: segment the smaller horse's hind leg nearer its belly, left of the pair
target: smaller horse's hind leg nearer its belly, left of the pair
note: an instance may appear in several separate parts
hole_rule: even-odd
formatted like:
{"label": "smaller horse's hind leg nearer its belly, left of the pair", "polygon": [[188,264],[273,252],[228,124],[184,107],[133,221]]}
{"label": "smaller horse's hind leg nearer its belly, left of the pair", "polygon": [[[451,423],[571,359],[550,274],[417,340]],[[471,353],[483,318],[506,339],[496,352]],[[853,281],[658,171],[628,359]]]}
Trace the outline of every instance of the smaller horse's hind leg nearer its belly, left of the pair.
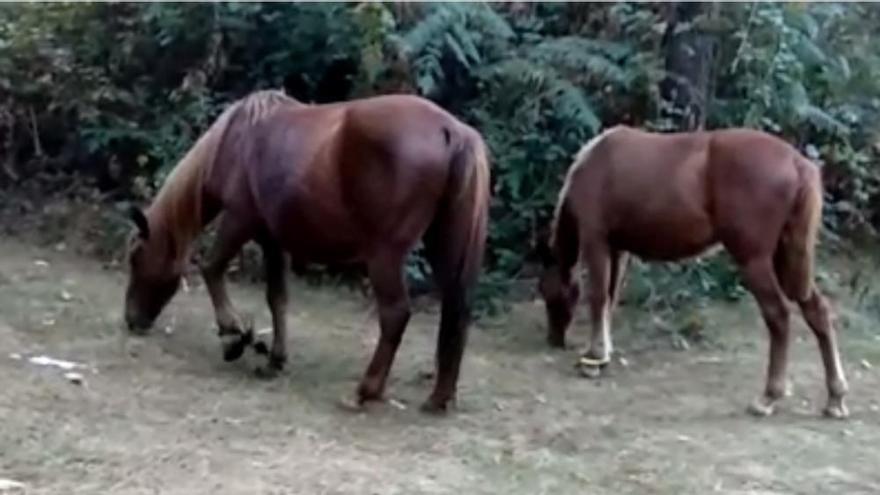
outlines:
{"label": "smaller horse's hind leg nearer its belly, left of the pair", "polygon": [[773,270],[770,257],[752,259],[740,270],[746,287],[761,308],[761,315],[770,333],[770,357],[767,365],[767,384],[764,393],[749,405],[749,412],[757,416],[773,414],[776,402],[786,395],[785,374],[788,367],[789,311],[785,296]]}

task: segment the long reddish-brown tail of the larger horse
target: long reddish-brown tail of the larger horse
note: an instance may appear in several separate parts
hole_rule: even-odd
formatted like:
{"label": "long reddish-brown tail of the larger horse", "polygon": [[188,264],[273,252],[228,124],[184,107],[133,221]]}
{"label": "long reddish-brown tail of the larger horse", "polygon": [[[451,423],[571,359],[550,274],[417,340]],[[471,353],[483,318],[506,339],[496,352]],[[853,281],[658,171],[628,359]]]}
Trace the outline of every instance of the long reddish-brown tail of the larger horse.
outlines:
{"label": "long reddish-brown tail of the larger horse", "polygon": [[[477,282],[489,217],[489,160],[482,137],[463,127],[452,154],[449,179],[425,248],[437,282],[469,293]],[[446,297],[446,294],[444,294]]]}

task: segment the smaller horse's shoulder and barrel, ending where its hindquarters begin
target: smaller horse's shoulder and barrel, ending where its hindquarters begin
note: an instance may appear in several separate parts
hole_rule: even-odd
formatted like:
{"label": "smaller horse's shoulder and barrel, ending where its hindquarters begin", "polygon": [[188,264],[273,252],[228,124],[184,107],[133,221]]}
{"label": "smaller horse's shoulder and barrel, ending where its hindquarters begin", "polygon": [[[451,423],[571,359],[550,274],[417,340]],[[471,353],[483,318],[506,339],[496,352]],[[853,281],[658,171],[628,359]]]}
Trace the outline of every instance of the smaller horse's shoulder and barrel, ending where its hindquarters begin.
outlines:
{"label": "smaller horse's shoulder and barrel, ending where its hindquarters begin", "polygon": [[617,127],[573,165],[569,201],[583,235],[644,258],[690,256],[714,242],[705,136]]}

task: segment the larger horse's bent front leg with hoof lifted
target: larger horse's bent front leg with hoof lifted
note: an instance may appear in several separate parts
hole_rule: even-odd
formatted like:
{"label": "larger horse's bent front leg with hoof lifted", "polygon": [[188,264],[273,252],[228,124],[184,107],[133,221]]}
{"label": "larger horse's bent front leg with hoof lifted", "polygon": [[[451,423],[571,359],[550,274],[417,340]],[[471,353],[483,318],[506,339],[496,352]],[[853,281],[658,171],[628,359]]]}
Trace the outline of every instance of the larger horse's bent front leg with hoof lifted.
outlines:
{"label": "larger horse's bent front leg with hoof lifted", "polygon": [[214,306],[217,327],[223,340],[223,359],[226,361],[240,358],[245,347],[253,340],[252,329],[244,331],[241,318],[229,300],[225,279],[229,262],[250,237],[251,232],[246,225],[224,215],[217,229],[217,239],[202,267],[202,277]]}

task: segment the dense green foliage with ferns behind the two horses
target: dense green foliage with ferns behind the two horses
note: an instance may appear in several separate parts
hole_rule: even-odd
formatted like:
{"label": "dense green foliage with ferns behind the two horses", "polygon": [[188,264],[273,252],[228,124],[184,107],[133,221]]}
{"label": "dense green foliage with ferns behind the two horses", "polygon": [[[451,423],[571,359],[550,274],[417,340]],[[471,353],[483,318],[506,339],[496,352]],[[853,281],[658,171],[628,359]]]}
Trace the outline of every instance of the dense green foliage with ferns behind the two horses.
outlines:
{"label": "dense green foliage with ferns behind the two horses", "polygon": [[[676,127],[665,37],[713,43],[707,127],[786,137],[825,167],[829,232],[880,212],[880,8],[711,4],[668,29],[661,4],[15,4],[0,6],[0,181],[76,175],[148,196],[229,101],[427,96],[485,135],[489,277],[522,274],[574,152],[604,126]],[[414,274],[419,270],[413,264]],[[636,290],[687,280],[734,295],[723,260],[637,267]]]}

